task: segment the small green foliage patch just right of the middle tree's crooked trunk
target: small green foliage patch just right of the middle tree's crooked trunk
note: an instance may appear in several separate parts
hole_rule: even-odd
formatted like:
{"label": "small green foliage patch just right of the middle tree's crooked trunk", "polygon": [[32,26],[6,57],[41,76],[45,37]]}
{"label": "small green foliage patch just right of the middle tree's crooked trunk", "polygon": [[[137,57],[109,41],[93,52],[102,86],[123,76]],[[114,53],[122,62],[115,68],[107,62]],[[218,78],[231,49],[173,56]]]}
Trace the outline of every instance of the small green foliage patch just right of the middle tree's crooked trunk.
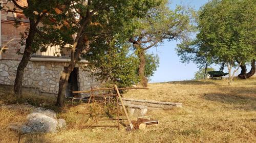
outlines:
{"label": "small green foliage patch just right of the middle tree's crooked trunk", "polygon": [[159,67],[159,56],[154,55],[153,53],[145,54],[145,60],[146,60],[146,65],[145,65],[145,71],[144,74],[147,78],[150,78],[151,76],[154,75],[155,71]]}

